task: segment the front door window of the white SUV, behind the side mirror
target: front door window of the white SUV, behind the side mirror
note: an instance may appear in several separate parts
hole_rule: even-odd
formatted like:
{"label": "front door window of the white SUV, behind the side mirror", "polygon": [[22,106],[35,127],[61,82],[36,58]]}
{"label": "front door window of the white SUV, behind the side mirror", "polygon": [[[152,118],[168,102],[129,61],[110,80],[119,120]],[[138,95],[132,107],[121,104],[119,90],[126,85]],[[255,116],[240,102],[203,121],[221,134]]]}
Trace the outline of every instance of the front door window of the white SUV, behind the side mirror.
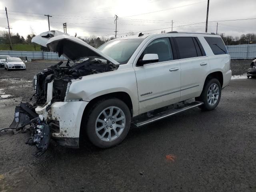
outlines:
{"label": "front door window of the white SUV, behind the side mirror", "polygon": [[169,38],[155,39],[143,51],[140,59],[145,54],[158,54],[158,62],[173,60],[172,47]]}

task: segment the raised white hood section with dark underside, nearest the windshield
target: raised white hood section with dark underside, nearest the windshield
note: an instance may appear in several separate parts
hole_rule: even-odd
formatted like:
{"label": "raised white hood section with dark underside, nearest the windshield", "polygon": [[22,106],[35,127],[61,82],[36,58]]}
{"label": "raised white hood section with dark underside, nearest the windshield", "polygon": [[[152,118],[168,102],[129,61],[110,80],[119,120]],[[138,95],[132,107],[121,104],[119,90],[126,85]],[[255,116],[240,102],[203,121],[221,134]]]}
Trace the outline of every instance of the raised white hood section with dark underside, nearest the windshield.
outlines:
{"label": "raised white hood section with dark underside, nearest the windshield", "polygon": [[119,64],[116,60],[74,36],[69,36],[66,34],[54,36],[48,40],[46,45],[53,52],[58,52],[59,57],[64,55],[66,58],[72,61],[77,61],[84,57],[91,57],[103,58],[112,64]]}

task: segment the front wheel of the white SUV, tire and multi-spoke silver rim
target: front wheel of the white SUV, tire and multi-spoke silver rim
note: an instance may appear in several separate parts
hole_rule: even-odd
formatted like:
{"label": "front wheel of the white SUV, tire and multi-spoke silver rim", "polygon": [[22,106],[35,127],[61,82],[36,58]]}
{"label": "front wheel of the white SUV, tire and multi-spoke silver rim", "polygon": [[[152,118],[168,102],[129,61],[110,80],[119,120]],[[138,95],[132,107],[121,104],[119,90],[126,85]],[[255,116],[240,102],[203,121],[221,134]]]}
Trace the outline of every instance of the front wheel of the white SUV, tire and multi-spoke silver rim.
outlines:
{"label": "front wheel of the white SUV, tire and multi-spoke silver rim", "polygon": [[[112,115],[110,110],[112,110]],[[86,134],[92,144],[99,148],[110,148],[122,142],[128,134],[131,124],[130,110],[118,98],[100,100],[92,106],[84,124]]]}

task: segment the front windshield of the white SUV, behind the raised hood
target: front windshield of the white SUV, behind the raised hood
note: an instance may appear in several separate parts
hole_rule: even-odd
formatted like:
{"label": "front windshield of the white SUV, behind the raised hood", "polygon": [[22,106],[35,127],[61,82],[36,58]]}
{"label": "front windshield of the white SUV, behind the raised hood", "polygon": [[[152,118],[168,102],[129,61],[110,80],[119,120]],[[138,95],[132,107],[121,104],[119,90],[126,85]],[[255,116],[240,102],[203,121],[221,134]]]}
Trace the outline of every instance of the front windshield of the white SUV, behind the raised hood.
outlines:
{"label": "front windshield of the white SUV, behind the raised hood", "polygon": [[106,42],[98,48],[120,64],[126,64],[144,39],[122,39]]}

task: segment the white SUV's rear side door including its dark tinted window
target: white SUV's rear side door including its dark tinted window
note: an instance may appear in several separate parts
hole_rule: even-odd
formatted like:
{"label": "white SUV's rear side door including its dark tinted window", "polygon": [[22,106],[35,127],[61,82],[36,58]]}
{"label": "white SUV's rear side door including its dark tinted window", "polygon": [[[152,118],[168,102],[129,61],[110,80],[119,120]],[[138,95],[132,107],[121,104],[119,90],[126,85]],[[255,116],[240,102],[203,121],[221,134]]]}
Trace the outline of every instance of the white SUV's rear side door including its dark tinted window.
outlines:
{"label": "white SUV's rear side door including its dark tinted window", "polygon": [[199,96],[210,71],[208,58],[196,37],[174,37],[181,68],[180,101]]}

